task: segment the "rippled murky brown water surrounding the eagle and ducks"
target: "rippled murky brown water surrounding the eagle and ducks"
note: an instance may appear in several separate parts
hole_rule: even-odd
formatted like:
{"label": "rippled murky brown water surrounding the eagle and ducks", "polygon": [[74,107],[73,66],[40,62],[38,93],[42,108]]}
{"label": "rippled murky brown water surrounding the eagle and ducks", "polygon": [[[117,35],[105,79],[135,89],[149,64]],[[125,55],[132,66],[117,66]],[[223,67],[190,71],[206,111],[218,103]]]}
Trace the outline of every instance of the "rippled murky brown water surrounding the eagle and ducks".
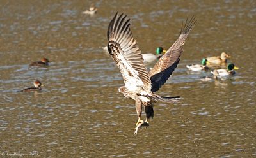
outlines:
{"label": "rippled murky brown water surrounding the eagle and ducks", "polygon": [[[92,3],[97,15],[81,14]],[[138,136],[134,101],[117,93],[122,77],[101,49],[116,11],[131,18],[143,52],[170,47],[187,16],[198,21],[159,91],[182,104],[156,104]],[[0,154],[255,157],[255,15],[255,1],[1,1]],[[230,80],[202,82],[209,72],[187,71],[222,51],[240,68]],[[28,67],[41,57],[51,66]],[[36,79],[42,92],[17,92]]]}

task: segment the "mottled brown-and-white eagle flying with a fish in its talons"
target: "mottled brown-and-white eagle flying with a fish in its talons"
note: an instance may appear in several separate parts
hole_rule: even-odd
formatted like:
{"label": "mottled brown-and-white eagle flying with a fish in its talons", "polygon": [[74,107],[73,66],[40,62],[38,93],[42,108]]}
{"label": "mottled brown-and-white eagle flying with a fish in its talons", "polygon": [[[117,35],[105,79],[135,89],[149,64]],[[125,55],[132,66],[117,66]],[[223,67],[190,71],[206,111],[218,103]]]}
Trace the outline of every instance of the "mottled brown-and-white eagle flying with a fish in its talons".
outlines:
{"label": "mottled brown-and-white eagle flying with a fish in its talons", "polygon": [[[154,102],[180,102],[179,97],[163,97],[155,92],[168,80],[179,64],[183,45],[196,21],[195,17],[190,20],[187,18],[186,23],[182,24],[179,38],[157,61],[150,72],[147,71],[143,63],[141,51],[132,36],[129,21],[130,19],[126,15],[115,14],[108,26],[108,52],[124,78],[125,85],[119,87],[118,91],[135,101],[138,122],[134,134],[137,134],[138,127],[142,124],[149,125],[148,119],[154,117]],[[145,121],[141,120],[143,106],[146,113]]]}

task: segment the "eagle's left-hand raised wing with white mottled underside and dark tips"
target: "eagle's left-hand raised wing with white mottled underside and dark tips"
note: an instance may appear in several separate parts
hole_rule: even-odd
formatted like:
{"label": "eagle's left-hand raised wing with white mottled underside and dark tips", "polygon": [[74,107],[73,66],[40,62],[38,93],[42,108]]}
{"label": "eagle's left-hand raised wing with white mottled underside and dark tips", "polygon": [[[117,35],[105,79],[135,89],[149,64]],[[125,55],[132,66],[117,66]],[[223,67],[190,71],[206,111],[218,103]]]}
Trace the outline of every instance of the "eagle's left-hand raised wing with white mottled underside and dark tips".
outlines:
{"label": "eagle's left-hand raised wing with white mottled underside and dark tips", "polygon": [[116,13],[108,26],[107,36],[109,54],[122,73],[125,85],[143,87],[149,92],[150,78],[126,15]]}

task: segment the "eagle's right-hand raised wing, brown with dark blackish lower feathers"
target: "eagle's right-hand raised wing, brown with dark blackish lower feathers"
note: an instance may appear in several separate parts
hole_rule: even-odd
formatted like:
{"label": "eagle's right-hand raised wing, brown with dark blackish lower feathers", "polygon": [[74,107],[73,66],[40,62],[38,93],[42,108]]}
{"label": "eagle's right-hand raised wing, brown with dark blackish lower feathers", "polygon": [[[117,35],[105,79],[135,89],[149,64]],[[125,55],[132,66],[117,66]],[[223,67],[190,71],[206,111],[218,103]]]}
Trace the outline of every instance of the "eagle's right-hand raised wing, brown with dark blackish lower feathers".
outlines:
{"label": "eagle's right-hand raised wing, brown with dark blackish lower feathers", "polygon": [[183,27],[181,27],[179,38],[173,43],[167,52],[159,59],[153,69],[149,72],[150,80],[152,83],[152,92],[156,92],[160,87],[168,80],[172,75],[174,69],[177,67],[180,61],[180,55],[183,52],[183,45],[188,37],[189,32],[195,25],[195,17],[192,17],[189,21],[188,18]]}

